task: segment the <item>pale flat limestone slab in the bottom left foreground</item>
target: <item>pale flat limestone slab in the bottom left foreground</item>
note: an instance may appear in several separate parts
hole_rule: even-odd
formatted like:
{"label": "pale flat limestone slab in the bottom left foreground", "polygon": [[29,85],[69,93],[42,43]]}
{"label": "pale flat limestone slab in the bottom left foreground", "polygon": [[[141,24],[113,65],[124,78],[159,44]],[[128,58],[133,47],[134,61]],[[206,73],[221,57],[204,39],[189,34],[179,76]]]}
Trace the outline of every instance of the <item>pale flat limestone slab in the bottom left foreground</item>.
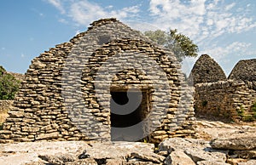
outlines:
{"label": "pale flat limestone slab in the bottom left foreground", "polygon": [[[84,141],[40,141],[0,144],[0,164],[49,164],[49,162],[43,161],[38,156],[73,156],[87,147],[90,147],[90,145]],[[6,153],[11,154],[7,155]]]}

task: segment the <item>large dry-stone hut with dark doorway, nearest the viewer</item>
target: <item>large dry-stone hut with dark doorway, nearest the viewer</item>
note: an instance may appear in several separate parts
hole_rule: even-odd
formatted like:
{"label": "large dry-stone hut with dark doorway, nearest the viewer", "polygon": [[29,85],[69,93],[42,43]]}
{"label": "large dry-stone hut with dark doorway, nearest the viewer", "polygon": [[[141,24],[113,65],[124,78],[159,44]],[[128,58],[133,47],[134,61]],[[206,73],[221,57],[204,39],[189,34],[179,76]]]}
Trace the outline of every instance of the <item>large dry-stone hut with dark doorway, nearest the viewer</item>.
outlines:
{"label": "large dry-stone hut with dark doorway, nearest the viewer", "polygon": [[0,141],[193,136],[192,93],[172,52],[119,20],[97,20],[32,60]]}

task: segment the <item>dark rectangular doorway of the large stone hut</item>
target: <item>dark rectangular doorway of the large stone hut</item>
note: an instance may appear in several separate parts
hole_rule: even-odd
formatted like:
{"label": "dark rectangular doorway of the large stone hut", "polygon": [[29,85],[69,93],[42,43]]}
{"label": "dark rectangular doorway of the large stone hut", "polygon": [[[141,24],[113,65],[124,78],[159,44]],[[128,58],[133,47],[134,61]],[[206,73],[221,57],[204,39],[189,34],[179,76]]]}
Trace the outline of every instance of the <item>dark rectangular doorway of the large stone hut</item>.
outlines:
{"label": "dark rectangular doorway of the large stone hut", "polygon": [[[142,122],[148,114],[148,96],[146,92],[123,92],[111,91],[112,100],[110,102],[111,139],[132,141],[132,137],[143,134],[143,127],[129,133],[125,128]],[[122,129],[124,128],[124,129]],[[113,130],[114,129],[114,130]],[[119,131],[117,131],[119,130]],[[127,130],[127,129],[126,129]],[[131,140],[129,140],[131,139]]]}

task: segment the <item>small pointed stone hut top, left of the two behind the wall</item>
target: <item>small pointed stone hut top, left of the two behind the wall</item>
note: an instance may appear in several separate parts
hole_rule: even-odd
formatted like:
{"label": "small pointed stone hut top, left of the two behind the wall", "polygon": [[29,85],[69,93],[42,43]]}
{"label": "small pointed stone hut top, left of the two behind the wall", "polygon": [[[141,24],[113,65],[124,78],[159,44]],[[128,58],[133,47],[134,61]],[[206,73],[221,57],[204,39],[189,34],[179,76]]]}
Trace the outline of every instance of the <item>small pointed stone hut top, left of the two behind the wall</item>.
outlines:
{"label": "small pointed stone hut top, left of the two behind the wall", "polygon": [[212,83],[225,81],[226,79],[220,65],[207,54],[202,54],[201,57],[196,60],[189,75],[190,84]]}

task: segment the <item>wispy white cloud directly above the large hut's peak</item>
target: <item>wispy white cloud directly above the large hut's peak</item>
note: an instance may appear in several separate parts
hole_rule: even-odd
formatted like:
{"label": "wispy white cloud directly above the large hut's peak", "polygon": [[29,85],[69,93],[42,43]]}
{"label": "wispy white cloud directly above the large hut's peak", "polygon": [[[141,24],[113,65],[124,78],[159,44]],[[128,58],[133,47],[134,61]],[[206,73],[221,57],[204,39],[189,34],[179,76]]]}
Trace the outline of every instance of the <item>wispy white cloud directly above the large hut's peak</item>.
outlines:
{"label": "wispy white cloud directly above the large hut's peak", "polygon": [[[126,7],[123,9],[113,9],[113,5],[102,7],[98,3],[89,0],[47,0],[56,9],[60,10],[63,16],[71,18],[78,26],[89,26],[94,20],[114,17],[119,20],[127,20],[137,17],[140,12],[139,5]],[[66,19],[59,19],[62,23],[67,23]]]}

